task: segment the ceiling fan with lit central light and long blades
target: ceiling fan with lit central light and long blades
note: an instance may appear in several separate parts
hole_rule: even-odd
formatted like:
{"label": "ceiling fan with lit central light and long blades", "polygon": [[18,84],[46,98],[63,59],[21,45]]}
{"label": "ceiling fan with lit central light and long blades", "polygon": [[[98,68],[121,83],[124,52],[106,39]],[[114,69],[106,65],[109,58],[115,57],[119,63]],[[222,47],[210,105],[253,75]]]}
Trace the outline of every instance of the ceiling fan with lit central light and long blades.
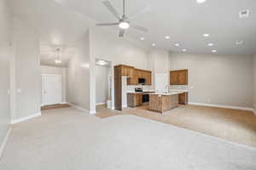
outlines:
{"label": "ceiling fan with lit central light and long blades", "polygon": [[[102,3],[108,8],[108,10],[118,19],[118,22],[115,23],[102,23],[102,24],[96,24],[96,26],[119,26],[119,37],[125,36],[125,30],[127,30],[129,27],[137,30],[137,31],[143,31],[147,32],[147,28],[143,28],[142,26],[136,26],[131,25],[130,21],[128,20],[128,17],[125,15],[125,0],[123,0],[123,14],[122,16],[119,15],[117,10],[113,8],[113,5],[109,2],[109,0],[103,0]],[[144,11],[143,11],[144,12]]]}

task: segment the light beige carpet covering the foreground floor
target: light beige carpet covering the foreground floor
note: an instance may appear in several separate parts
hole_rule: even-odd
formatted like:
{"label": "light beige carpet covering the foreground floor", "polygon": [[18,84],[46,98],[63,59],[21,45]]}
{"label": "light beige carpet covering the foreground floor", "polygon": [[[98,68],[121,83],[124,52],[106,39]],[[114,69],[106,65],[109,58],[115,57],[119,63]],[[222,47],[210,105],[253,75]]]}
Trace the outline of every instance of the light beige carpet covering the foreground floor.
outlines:
{"label": "light beige carpet covering the foreground floor", "polygon": [[256,149],[123,115],[50,110],[13,127],[2,170],[255,170]]}

